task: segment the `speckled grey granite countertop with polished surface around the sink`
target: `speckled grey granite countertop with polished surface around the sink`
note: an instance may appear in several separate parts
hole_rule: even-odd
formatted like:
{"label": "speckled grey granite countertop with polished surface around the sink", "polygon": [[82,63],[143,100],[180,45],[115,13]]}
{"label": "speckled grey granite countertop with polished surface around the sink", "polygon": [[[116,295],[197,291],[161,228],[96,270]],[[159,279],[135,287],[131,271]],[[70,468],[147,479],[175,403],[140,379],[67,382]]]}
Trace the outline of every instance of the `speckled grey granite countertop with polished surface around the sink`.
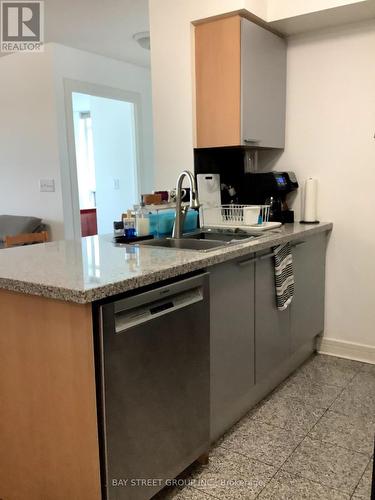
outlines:
{"label": "speckled grey granite countertop with polished surface around the sink", "polygon": [[286,224],[251,242],[207,253],[115,246],[111,236],[3,249],[0,289],[86,304],[331,229],[331,223]]}

